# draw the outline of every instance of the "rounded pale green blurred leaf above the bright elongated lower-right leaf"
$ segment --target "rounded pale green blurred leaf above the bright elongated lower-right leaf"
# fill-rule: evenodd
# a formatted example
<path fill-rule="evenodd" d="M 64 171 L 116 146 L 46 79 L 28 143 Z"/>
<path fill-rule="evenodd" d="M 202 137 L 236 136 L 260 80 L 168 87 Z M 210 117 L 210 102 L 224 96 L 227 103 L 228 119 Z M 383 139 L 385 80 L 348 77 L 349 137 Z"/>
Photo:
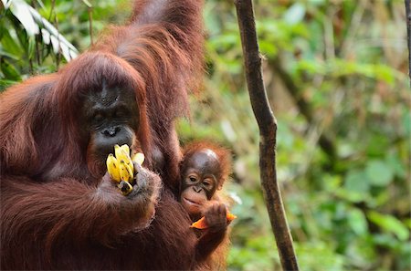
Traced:
<path fill-rule="evenodd" d="M 380 160 L 368 162 L 365 172 L 368 180 L 376 186 L 385 186 L 389 184 L 394 177 L 392 168 Z"/>

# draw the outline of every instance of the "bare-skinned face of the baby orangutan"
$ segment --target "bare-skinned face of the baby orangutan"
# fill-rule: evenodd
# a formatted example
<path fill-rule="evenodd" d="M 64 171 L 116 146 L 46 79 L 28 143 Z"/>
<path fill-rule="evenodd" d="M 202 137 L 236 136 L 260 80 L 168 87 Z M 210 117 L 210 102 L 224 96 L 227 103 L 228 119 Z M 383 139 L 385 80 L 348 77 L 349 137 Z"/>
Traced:
<path fill-rule="evenodd" d="M 180 202 L 191 215 L 200 214 L 203 203 L 210 201 L 218 188 L 220 167 L 216 153 L 209 149 L 195 151 L 182 168 Z"/>

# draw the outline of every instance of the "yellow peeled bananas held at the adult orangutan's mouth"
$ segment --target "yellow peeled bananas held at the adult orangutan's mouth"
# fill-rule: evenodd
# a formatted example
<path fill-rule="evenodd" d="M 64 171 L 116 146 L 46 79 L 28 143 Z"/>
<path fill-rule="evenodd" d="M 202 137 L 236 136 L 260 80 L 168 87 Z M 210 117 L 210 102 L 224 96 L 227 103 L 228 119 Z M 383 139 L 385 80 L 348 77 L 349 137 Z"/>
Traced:
<path fill-rule="evenodd" d="M 128 195 L 132 192 L 132 181 L 134 180 L 134 165 L 137 162 L 142 165 L 144 162 L 144 154 L 137 152 L 130 157 L 130 147 L 127 144 L 114 145 L 114 154 L 110 153 L 107 157 L 107 171 L 111 179 L 117 182 L 117 187 L 123 195 Z"/>

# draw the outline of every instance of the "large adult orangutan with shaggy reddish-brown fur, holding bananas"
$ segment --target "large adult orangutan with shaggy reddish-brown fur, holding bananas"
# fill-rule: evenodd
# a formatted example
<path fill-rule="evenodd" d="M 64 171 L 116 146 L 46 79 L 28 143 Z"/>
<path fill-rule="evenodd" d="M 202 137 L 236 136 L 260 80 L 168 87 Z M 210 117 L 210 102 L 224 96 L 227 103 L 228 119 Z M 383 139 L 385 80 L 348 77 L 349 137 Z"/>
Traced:
<path fill-rule="evenodd" d="M 174 119 L 202 68 L 201 2 L 136 1 L 126 26 L 1 94 L 2 270 L 200 264 L 173 193 Z M 106 172 L 114 144 L 146 157 L 127 196 Z"/>

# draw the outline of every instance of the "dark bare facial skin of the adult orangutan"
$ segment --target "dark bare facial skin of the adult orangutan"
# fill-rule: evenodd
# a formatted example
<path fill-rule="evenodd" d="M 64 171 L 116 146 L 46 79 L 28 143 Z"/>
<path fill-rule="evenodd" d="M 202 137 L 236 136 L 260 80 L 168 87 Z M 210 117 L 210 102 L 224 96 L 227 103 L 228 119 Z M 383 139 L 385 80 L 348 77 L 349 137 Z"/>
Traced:
<path fill-rule="evenodd" d="M 106 86 L 91 92 L 83 106 L 83 116 L 90 135 L 89 151 L 105 161 L 114 153 L 114 145 L 132 146 L 138 128 L 139 109 L 132 90 Z"/>

